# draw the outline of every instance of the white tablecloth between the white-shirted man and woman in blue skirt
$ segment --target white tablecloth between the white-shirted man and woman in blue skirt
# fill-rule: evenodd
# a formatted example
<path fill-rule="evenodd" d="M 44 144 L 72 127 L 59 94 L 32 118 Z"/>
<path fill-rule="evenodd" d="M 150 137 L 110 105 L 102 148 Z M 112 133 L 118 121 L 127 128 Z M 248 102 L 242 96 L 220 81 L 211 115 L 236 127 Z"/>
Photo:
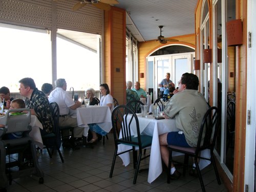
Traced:
<path fill-rule="evenodd" d="M 102 130 L 110 132 L 112 129 L 111 111 L 109 106 L 94 106 L 76 109 L 77 125 L 84 127 L 84 136 L 87 136 L 90 123 L 97 123 Z"/>

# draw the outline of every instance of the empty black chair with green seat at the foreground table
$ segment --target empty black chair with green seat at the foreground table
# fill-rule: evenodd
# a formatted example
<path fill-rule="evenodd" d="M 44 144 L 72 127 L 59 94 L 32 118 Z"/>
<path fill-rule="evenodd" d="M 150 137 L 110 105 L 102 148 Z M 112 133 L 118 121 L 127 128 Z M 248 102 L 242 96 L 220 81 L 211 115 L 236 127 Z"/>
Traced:
<path fill-rule="evenodd" d="M 139 121 L 138 121 L 137 115 L 132 109 L 130 109 L 126 105 L 117 106 L 112 112 L 111 118 L 112 118 L 113 135 L 114 135 L 114 141 L 115 141 L 115 152 L 114 152 L 114 157 L 113 157 L 111 171 L 110 171 L 110 178 L 113 176 L 116 157 L 120 154 L 133 151 L 134 168 L 136 168 L 133 184 L 136 184 L 140 162 L 141 160 L 150 156 L 148 155 L 142 158 L 142 150 L 143 148 L 151 146 L 152 137 L 147 135 L 140 135 L 140 127 L 139 127 Z M 134 134 L 132 134 L 132 131 L 131 131 L 132 121 L 135 121 L 135 125 L 136 125 L 136 129 L 134 129 L 136 130 L 136 133 Z M 118 136 L 117 134 L 118 132 L 117 130 L 119 128 L 120 128 L 120 136 Z M 137 136 L 135 137 L 134 135 L 137 135 Z M 119 144 L 129 145 L 132 148 L 130 150 L 117 153 Z M 135 151 L 135 147 L 139 148 L 138 158 L 137 158 L 137 152 Z"/>

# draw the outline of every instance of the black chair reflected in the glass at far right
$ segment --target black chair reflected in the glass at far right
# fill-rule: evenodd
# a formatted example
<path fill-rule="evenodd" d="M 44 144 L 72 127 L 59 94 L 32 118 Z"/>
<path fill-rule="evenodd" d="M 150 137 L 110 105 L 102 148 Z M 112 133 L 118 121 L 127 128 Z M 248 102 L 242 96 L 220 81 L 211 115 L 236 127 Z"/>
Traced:
<path fill-rule="evenodd" d="M 236 121 L 236 103 L 229 101 L 227 103 L 227 146 L 226 154 L 231 143 L 234 141 L 234 128 Z"/>

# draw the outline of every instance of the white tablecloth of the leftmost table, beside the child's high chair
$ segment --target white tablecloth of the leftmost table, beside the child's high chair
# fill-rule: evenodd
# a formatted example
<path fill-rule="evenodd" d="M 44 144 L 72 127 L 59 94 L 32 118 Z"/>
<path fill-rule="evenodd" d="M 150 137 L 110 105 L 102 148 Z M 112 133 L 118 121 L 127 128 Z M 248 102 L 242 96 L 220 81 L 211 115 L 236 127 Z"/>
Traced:
<path fill-rule="evenodd" d="M 0 118 L 0 124 L 3 124 L 4 118 Z M 31 132 L 29 132 L 29 136 L 33 138 L 35 141 L 35 144 L 40 147 L 41 149 L 44 148 L 44 145 L 42 144 L 42 137 L 39 129 L 42 129 L 42 124 L 37 119 L 35 115 L 31 115 L 31 122 L 30 125 L 32 126 Z"/>

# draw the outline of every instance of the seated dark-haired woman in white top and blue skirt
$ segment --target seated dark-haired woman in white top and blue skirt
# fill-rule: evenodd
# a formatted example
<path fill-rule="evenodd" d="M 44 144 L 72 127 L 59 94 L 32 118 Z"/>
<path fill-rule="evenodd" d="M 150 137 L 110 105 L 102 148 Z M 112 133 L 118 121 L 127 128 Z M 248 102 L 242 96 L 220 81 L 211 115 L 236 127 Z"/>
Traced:
<path fill-rule="evenodd" d="M 114 110 L 114 102 L 113 102 L 113 97 L 110 95 L 110 89 L 108 84 L 103 83 L 100 84 L 100 93 L 101 93 L 101 98 L 100 98 L 100 106 L 109 106 L 111 112 Z M 91 123 L 88 124 L 89 129 L 92 132 L 92 139 L 88 143 L 95 143 L 98 140 L 98 136 L 102 135 L 105 136 L 107 133 L 102 130 L 97 123 Z"/>

